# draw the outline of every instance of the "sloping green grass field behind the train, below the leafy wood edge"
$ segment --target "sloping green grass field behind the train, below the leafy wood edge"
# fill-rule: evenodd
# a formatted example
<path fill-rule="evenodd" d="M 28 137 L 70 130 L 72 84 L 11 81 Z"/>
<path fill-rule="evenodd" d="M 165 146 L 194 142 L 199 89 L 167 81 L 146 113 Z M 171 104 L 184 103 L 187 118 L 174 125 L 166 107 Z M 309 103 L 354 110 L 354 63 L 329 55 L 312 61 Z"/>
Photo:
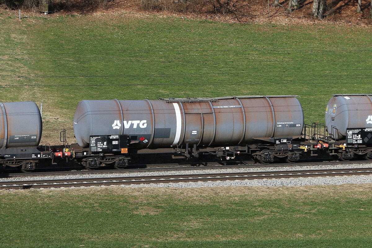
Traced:
<path fill-rule="evenodd" d="M 0 22 L 1 100 L 43 102 L 43 141 L 64 127 L 73 136 L 81 99 L 299 95 L 310 123 L 323 121 L 331 94 L 371 93 L 371 27 L 132 13 L 18 20 L 3 12 Z"/>

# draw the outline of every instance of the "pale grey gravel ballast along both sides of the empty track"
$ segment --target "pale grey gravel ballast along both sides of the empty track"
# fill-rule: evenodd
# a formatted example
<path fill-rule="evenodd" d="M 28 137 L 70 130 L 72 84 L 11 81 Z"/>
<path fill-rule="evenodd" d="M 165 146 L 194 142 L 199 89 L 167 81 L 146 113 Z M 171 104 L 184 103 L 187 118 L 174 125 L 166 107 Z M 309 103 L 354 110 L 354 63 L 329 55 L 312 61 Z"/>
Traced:
<path fill-rule="evenodd" d="M 283 167 L 260 167 L 260 168 L 231 168 L 231 169 L 196 169 L 185 171 L 151 171 L 151 172 L 115 172 L 102 174 L 78 174 L 78 175 L 48 175 L 48 176 L 24 176 L 14 178 L 0 178 L 1 182 L 33 181 L 54 179 L 78 179 L 78 178 L 106 178 L 106 177 L 140 177 L 151 175 L 188 175 L 188 174 L 211 174 L 232 172 L 264 172 L 264 171 L 293 171 L 314 169 L 350 169 L 369 168 L 370 163 L 349 165 L 319 165 L 319 166 L 283 166 Z M 279 179 L 250 179 L 232 181 L 209 181 L 209 182 L 183 182 L 183 183 L 160 183 L 160 184 L 133 184 L 116 187 L 176 187 L 176 188 L 199 188 L 217 186 L 302 186 L 302 185 L 340 185 L 340 184 L 363 184 L 372 183 L 372 175 L 359 176 L 331 176 L 331 177 L 306 177 L 306 178 L 279 178 Z M 100 187 L 100 186 L 96 186 Z"/>

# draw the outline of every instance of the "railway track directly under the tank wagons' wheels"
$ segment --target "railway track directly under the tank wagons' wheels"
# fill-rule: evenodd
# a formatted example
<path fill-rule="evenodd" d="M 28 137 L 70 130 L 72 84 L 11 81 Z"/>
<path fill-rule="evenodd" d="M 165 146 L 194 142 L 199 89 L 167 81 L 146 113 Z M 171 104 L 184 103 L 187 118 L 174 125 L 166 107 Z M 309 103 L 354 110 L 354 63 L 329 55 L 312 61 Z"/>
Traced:
<path fill-rule="evenodd" d="M 45 175 L 78 175 L 78 174 L 105 174 L 118 172 L 147 172 L 147 171 L 186 171 L 195 169 L 230 169 L 230 168 L 265 168 L 265 167 L 293 167 L 308 165 L 340 165 L 340 164 L 363 164 L 370 161 L 328 161 L 328 162 L 301 162 L 301 163 L 272 163 L 272 164 L 240 164 L 240 165 L 208 165 L 208 166 L 183 166 L 179 164 L 153 164 L 140 165 L 138 167 L 148 166 L 146 168 L 128 168 L 128 169 L 98 169 L 96 171 L 76 170 L 78 167 L 71 167 L 72 171 L 41 171 L 31 173 L 0 173 L 0 178 L 45 176 Z M 1 183 L 1 182 L 0 182 Z"/>

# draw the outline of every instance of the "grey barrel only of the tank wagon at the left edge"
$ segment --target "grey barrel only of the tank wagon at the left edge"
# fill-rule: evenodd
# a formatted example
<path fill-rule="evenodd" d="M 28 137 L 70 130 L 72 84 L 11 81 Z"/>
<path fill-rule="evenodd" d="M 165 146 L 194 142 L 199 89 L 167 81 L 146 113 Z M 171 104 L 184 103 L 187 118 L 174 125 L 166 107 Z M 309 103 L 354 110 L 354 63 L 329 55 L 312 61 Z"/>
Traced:
<path fill-rule="evenodd" d="M 0 147 L 38 146 L 42 121 L 35 102 L 0 103 Z"/>

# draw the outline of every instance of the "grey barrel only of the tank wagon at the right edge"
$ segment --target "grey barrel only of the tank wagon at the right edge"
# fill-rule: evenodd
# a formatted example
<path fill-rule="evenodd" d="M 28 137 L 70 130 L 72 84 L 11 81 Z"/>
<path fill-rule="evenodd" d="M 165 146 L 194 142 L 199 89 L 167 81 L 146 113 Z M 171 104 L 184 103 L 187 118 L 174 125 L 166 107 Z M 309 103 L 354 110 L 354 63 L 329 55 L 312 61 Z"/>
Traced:
<path fill-rule="evenodd" d="M 325 109 L 325 125 L 335 140 L 346 139 L 347 128 L 372 128 L 372 94 L 333 95 Z"/>

